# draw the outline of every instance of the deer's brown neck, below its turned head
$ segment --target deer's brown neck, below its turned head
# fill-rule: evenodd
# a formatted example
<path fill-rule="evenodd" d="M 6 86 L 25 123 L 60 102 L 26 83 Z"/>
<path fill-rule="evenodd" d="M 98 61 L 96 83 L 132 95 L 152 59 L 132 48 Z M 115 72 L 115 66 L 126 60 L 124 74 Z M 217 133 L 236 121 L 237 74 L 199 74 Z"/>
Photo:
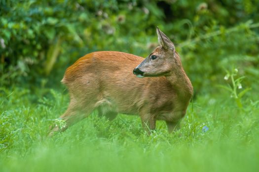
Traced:
<path fill-rule="evenodd" d="M 183 67 L 180 70 L 172 72 L 171 75 L 166 76 L 166 79 L 173 86 L 174 91 L 177 94 L 177 97 L 181 102 L 189 102 L 192 94 L 193 87 Z"/>

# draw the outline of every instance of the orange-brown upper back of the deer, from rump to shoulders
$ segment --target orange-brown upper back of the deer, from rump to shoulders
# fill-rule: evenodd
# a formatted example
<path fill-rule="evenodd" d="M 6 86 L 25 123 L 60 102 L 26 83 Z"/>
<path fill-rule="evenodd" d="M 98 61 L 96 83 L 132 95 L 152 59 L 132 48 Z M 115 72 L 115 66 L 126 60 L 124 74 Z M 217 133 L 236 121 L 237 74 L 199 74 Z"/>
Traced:
<path fill-rule="evenodd" d="M 132 74 L 133 69 L 143 59 L 122 52 L 100 51 L 90 53 L 79 58 L 66 70 L 62 82 L 65 84 L 71 83 L 89 73 L 95 74 L 100 79 L 102 73 L 109 75 L 113 72 L 123 71 Z"/>

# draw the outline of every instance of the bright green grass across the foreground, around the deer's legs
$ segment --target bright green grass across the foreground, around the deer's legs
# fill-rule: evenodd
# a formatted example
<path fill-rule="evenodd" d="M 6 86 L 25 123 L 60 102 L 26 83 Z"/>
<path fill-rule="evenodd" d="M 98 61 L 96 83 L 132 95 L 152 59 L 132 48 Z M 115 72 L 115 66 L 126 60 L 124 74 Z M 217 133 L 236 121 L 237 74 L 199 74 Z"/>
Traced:
<path fill-rule="evenodd" d="M 107 121 L 93 113 L 47 138 L 49 125 L 66 110 L 68 94 L 1 88 L 0 172 L 256 172 L 259 101 L 250 99 L 240 109 L 226 94 L 200 95 L 175 134 L 162 121 L 147 136 L 138 116 Z"/>

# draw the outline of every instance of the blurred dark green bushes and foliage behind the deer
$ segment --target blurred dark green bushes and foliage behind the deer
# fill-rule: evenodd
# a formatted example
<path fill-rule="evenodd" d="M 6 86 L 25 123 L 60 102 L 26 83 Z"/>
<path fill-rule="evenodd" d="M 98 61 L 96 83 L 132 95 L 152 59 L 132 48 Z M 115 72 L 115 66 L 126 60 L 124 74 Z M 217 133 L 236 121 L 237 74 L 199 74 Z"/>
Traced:
<path fill-rule="evenodd" d="M 259 0 L 0 0 L 0 86 L 61 87 L 94 51 L 147 57 L 158 26 L 175 43 L 196 94 L 226 70 L 259 90 Z"/>

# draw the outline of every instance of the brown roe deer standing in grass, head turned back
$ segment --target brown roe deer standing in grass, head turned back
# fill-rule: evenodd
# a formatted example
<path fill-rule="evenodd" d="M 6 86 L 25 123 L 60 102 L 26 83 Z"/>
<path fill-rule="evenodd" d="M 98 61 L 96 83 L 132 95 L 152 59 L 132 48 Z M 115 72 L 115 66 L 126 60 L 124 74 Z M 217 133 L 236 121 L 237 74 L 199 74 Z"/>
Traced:
<path fill-rule="evenodd" d="M 66 126 L 52 127 L 49 136 L 65 131 L 94 110 L 109 120 L 118 114 L 140 115 L 148 134 L 155 130 L 156 120 L 164 120 L 170 133 L 177 131 L 193 87 L 174 43 L 158 27 L 156 32 L 160 45 L 146 58 L 99 51 L 68 67 L 61 81 L 70 94 L 69 107 L 60 116 Z"/>

